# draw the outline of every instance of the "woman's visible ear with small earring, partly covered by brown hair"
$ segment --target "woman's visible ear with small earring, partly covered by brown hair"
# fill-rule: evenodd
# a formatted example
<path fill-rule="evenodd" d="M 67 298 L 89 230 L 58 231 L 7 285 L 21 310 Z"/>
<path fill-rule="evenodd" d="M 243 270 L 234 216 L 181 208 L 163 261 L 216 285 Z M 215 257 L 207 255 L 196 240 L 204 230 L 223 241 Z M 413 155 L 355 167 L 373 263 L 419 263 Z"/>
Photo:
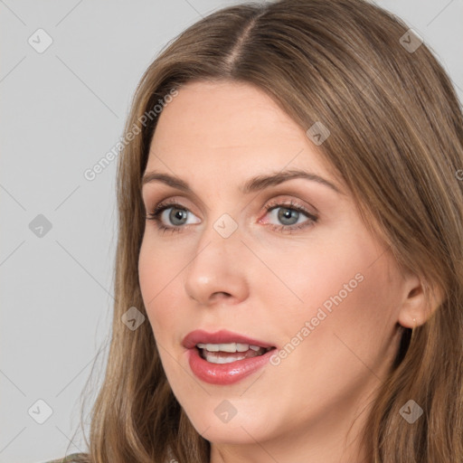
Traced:
<path fill-rule="evenodd" d="M 443 301 L 440 288 L 429 286 L 415 274 L 407 274 L 403 280 L 403 298 L 399 307 L 398 322 L 406 328 L 426 323 Z"/>

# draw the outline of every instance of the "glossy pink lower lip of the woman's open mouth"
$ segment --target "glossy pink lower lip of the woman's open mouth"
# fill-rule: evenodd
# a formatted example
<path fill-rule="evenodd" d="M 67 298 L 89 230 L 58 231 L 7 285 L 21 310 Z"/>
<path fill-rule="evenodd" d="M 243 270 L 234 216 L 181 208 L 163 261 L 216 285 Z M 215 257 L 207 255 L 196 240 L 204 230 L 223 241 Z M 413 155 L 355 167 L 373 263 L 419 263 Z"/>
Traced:
<path fill-rule="evenodd" d="M 193 373 L 203 382 L 210 384 L 238 383 L 252 373 L 257 372 L 274 354 L 275 349 L 257 357 L 236 360 L 230 364 L 212 364 L 203 359 L 195 347 L 188 349 L 188 363 Z"/>

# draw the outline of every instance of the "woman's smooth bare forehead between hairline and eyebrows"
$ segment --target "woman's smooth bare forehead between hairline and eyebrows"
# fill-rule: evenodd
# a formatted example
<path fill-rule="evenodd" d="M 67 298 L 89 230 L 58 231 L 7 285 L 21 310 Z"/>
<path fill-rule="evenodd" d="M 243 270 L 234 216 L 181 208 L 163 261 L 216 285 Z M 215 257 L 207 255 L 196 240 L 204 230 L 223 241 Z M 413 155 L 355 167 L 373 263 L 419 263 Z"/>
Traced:
<path fill-rule="evenodd" d="M 147 170 L 166 159 L 172 168 L 213 163 L 283 168 L 297 161 L 299 167 L 324 170 L 303 128 L 263 90 L 232 81 L 187 83 L 165 105 Z"/>

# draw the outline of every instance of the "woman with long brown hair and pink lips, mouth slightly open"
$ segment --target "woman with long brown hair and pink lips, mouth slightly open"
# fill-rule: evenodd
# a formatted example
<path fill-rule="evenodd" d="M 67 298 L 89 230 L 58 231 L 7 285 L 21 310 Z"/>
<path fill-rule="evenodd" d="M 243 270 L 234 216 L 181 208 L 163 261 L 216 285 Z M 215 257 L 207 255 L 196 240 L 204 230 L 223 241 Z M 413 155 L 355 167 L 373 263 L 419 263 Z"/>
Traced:
<path fill-rule="evenodd" d="M 109 363 L 67 461 L 461 461 L 462 128 L 361 0 L 182 33 L 128 118 Z"/>

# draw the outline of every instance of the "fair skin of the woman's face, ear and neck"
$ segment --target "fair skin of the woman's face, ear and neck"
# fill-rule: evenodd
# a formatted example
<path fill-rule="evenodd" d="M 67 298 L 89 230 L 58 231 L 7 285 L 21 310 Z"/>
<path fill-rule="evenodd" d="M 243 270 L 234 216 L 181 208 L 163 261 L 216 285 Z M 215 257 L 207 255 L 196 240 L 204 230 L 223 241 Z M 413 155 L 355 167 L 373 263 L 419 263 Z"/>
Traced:
<path fill-rule="evenodd" d="M 239 189 L 289 168 L 320 175 L 341 193 L 304 178 L 251 194 Z M 369 234 L 305 129 L 249 84 L 181 88 L 158 120 L 146 166 L 154 170 L 184 179 L 192 193 L 144 185 L 148 213 L 172 199 L 188 224 L 169 220 L 171 210 L 162 220 L 180 231 L 146 221 L 140 288 L 167 379 L 211 442 L 211 462 L 361 461 L 358 433 L 397 352 L 399 327 L 424 321 L 420 279 L 402 274 Z M 309 226 L 279 230 L 288 222 L 264 206 L 284 210 L 291 200 L 317 222 L 300 213 L 298 224 Z M 223 213 L 238 226 L 228 238 L 213 228 Z M 227 386 L 192 373 L 181 345 L 189 332 L 225 328 L 281 349 L 356 274 L 363 280 L 278 365 Z M 214 413 L 224 400 L 237 411 L 227 423 Z"/>

